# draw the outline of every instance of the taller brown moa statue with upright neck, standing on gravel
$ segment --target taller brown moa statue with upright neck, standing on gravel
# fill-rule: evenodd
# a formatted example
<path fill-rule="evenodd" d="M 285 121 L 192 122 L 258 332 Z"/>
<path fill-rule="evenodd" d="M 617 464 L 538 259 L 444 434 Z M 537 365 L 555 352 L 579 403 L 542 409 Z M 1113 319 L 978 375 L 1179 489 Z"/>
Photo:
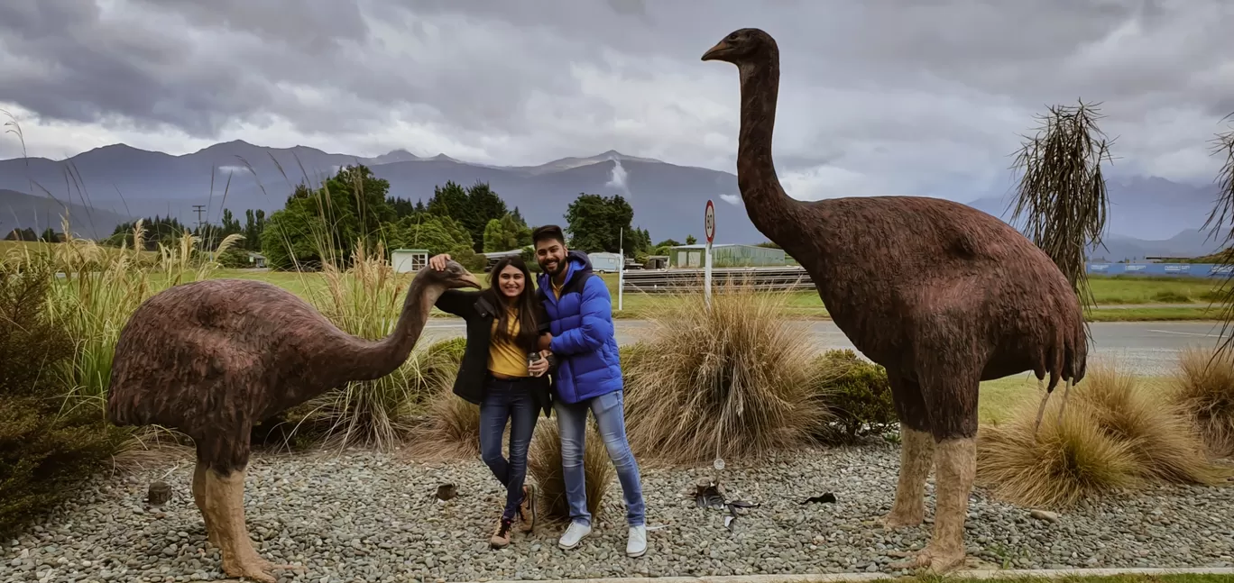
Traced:
<path fill-rule="evenodd" d="M 921 524 L 938 471 L 934 535 L 903 566 L 964 563 L 964 519 L 976 472 L 977 386 L 1033 371 L 1083 378 L 1087 338 L 1062 271 L 1007 223 L 943 198 L 875 196 L 802 202 L 771 161 L 780 84 L 775 39 L 728 35 L 702 55 L 740 73 L 737 182 L 750 221 L 810 274 L 835 325 L 887 369 L 903 436 L 888 528 Z"/>

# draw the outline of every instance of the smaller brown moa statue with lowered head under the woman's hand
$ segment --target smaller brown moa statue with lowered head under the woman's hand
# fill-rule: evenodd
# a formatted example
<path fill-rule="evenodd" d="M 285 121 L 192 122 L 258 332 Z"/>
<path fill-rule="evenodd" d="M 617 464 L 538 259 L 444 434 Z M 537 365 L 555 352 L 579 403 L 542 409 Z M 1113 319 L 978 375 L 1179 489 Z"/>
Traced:
<path fill-rule="evenodd" d="M 158 424 L 193 438 L 193 497 L 231 577 L 274 582 L 244 525 L 244 471 L 253 424 L 349 381 L 394 372 L 416 345 L 428 312 L 449 288 L 480 287 L 450 261 L 422 269 L 407 288 L 394 333 L 347 334 L 270 283 L 207 280 L 168 288 L 141 304 L 120 333 L 107 389 L 116 425 Z"/>

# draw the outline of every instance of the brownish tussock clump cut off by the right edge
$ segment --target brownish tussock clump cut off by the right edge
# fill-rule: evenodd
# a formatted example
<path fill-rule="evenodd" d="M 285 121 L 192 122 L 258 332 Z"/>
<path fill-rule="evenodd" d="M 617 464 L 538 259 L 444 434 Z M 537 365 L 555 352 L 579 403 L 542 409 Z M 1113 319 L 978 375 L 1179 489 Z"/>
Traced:
<path fill-rule="evenodd" d="M 1234 356 L 1214 356 L 1199 349 L 1183 351 L 1171 397 L 1212 455 L 1234 457 Z"/>

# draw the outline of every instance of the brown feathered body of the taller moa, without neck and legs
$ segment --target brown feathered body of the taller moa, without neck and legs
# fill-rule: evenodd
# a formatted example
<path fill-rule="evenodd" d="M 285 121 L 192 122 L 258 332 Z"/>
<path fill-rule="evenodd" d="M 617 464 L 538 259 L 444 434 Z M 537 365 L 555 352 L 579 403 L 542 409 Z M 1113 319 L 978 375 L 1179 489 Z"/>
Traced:
<path fill-rule="evenodd" d="M 796 218 L 765 227 L 780 230 L 772 240 L 801 261 L 835 325 L 875 362 L 908 373 L 928 351 L 953 366 L 977 364 L 981 380 L 1034 371 L 1053 388 L 1083 377 L 1079 298 L 1009 224 L 929 197 L 795 206 Z M 793 226 L 811 228 L 793 235 Z"/>

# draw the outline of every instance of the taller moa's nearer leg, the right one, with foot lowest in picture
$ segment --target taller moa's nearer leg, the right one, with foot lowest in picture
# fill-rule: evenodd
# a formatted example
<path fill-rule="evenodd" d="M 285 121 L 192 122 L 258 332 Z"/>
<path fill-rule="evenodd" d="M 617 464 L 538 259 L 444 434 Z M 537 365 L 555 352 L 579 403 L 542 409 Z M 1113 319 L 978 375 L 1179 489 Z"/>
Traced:
<path fill-rule="evenodd" d="M 977 387 L 980 373 L 923 375 L 922 396 L 934 438 L 934 532 L 908 565 L 945 573 L 964 565 L 964 521 L 977 470 Z"/>

